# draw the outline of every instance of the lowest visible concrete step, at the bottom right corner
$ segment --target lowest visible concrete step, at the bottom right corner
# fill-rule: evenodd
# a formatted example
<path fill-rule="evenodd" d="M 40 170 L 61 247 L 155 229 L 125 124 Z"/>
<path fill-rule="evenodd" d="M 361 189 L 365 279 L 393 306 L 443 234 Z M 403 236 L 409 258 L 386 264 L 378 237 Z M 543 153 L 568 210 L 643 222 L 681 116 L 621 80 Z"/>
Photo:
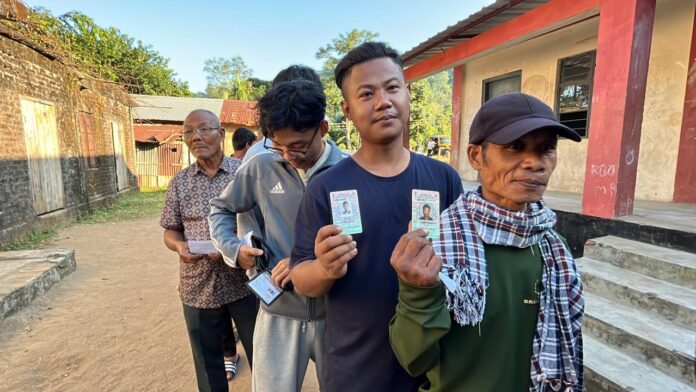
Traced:
<path fill-rule="evenodd" d="M 583 336 L 587 392 L 694 392 L 687 385 L 591 336 Z"/>

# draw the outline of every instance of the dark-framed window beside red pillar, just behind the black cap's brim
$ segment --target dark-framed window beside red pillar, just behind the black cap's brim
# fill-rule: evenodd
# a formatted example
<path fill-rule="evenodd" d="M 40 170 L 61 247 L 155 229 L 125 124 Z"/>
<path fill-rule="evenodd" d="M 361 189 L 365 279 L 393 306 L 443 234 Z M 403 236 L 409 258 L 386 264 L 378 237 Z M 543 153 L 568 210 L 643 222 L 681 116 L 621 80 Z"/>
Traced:
<path fill-rule="evenodd" d="M 558 61 L 558 120 L 584 138 L 588 135 L 590 125 L 594 66 L 594 51 Z"/>

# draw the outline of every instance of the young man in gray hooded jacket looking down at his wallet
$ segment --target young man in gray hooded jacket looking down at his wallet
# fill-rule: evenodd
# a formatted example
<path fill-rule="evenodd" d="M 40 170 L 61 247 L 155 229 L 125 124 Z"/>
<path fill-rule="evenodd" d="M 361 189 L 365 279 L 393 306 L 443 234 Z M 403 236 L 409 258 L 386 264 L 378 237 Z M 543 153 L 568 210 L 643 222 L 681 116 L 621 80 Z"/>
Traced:
<path fill-rule="evenodd" d="M 255 270 L 256 257 L 268 260 L 280 287 L 290 281 L 289 256 L 295 217 L 306 184 L 345 154 L 323 136 L 326 97 L 320 84 L 279 83 L 259 101 L 265 148 L 243 164 L 219 198 L 211 200 L 211 237 L 225 261 Z M 234 235 L 237 214 L 254 210 L 263 251 L 242 245 Z M 245 234 L 240 228 L 240 237 Z M 253 274 L 253 272 L 252 272 Z M 324 357 L 324 300 L 286 289 L 270 306 L 261 305 L 254 332 L 254 391 L 299 391 L 309 359 L 321 374 Z"/>

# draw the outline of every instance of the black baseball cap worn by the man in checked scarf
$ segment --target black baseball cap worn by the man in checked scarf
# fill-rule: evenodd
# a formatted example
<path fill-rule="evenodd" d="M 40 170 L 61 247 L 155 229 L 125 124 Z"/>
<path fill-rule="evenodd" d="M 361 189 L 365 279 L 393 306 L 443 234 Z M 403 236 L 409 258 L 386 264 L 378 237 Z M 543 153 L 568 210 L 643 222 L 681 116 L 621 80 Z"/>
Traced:
<path fill-rule="evenodd" d="M 548 105 L 522 93 L 499 95 L 481 106 L 469 129 L 469 144 L 508 144 L 537 129 L 579 142 L 580 135 L 556 119 Z"/>

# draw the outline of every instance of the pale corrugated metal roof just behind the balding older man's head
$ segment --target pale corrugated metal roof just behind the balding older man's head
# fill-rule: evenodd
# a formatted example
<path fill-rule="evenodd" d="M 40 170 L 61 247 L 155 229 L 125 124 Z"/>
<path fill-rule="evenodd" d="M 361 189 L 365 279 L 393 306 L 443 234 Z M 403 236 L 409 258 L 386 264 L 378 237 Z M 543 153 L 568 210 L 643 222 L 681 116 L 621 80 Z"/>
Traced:
<path fill-rule="evenodd" d="M 150 121 L 180 121 L 195 109 L 205 109 L 220 115 L 222 99 L 163 97 L 159 95 L 131 95 L 136 103 L 133 118 Z"/>

